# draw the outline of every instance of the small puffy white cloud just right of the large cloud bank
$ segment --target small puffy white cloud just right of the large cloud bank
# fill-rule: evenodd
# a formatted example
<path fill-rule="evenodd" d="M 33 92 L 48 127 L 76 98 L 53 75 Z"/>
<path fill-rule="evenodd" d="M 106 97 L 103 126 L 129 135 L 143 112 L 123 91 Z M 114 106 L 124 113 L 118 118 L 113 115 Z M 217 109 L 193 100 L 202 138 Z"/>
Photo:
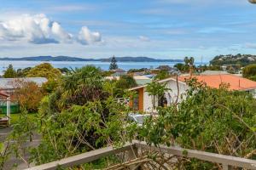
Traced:
<path fill-rule="evenodd" d="M 92 32 L 87 28 L 87 26 L 83 26 L 79 31 L 78 41 L 84 45 L 101 42 L 102 36 L 100 32 Z"/>

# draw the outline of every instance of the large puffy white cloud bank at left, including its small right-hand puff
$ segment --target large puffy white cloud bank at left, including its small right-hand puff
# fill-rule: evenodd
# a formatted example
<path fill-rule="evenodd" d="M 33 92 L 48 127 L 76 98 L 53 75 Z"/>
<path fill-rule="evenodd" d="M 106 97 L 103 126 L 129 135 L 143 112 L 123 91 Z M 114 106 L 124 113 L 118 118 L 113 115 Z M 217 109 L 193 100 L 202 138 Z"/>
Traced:
<path fill-rule="evenodd" d="M 23 14 L 9 20 L 0 21 L 0 40 L 44 43 L 78 42 L 87 45 L 101 41 L 99 32 L 91 32 L 86 26 L 82 27 L 78 38 L 56 21 L 49 20 L 45 14 Z"/>

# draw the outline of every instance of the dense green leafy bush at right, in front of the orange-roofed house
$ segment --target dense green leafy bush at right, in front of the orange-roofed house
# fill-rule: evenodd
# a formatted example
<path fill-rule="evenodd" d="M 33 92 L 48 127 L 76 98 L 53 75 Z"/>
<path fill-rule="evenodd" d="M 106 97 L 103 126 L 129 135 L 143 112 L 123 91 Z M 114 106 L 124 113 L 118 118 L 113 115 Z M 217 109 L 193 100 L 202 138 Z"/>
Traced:
<path fill-rule="evenodd" d="M 159 108 L 138 130 L 148 144 L 178 144 L 183 148 L 218 154 L 251 157 L 256 146 L 256 100 L 244 92 L 207 88 L 195 79 L 179 105 Z M 151 126 L 154 124 L 154 126 Z M 191 161 L 186 169 L 212 164 Z M 194 167 L 194 168 L 193 168 Z"/>

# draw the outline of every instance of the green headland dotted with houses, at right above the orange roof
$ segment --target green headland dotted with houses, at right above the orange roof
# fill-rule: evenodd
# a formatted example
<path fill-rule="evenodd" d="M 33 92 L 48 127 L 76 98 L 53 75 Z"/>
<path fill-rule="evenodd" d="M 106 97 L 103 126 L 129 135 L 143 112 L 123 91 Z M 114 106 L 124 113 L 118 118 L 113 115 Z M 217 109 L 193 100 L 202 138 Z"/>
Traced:
<path fill-rule="evenodd" d="M 228 54 L 218 55 L 210 61 L 211 65 L 250 65 L 256 64 L 256 55 L 251 54 Z"/>

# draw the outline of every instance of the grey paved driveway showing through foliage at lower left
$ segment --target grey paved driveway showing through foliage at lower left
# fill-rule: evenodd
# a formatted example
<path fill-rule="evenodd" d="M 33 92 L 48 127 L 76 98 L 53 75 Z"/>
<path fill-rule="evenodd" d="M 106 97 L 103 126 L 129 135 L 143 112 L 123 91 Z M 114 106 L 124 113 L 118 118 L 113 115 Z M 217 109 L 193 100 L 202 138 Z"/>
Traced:
<path fill-rule="evenodd" d="M 0 142 L 3 142 L 7 136 L 9 135 L 9 133 L 11 133 L 11 131 L 13 130 L 13 127 L 5 127 L 5 128 L 0 128 Z M 37 146 L 40 143 L 40 136 L 39 135 L 34 135 L 33 136 L 33 141 L 26 141 L 26 143 L 23 145 L 24 148 L 28 147 L 28 146 Z M 24 152 L 25 153 L 25 160 L 28 161 L 29 159 L 29 153 L 27 151 Z M 21 169 L 25 169 L 28 167 L 28 165 L 26 164 L 25 161 L 22 161 L 20 159 L 17 159 L 15 156 L 10 156 L 9 160 L 5 163 L 4 165 L 4 170 L 9 170 L 12 169 L 12 167 L 14 165 L 17 165 L 17 169 L 21 170 Z M 33 166 L 30 165 L 31 167 Z"/>

